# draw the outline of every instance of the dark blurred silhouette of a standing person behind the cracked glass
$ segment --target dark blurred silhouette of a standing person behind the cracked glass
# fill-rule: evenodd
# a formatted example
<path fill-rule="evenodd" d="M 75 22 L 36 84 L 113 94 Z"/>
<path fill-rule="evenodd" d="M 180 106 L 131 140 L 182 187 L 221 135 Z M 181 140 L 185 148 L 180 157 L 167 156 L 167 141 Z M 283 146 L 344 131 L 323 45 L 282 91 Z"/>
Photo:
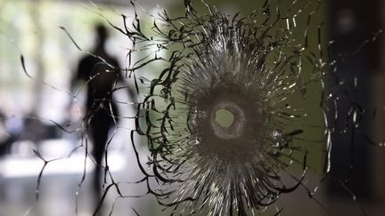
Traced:
<path fill-rule="evenodd" d="M 118 60 L 105 50 L 109 38 L 108 29 L 97 24 L 94 31 L 93 55 L 86 55 L 79 61 L 72 84 L 77 81 L 87 82 L 85 120 L 87 133 L 93 142 L 92 156 L 96 163 L 93 184 L 96 202 L 99 203 L 102 198 L 102 158 L 109 141 L 109 132 L 119 122 L 119 110 L 112 99 L 112 92 L 114 86 L 123 79 Z M 135 93 L 129 89 L 128 96 L 135 100 Z"/>

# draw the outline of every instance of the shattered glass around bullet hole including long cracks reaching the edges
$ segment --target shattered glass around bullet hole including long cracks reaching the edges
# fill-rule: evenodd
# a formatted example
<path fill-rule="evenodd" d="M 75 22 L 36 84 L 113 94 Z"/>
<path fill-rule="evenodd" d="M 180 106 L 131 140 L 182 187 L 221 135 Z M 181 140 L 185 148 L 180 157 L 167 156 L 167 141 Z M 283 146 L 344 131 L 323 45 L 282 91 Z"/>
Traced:
<path fill-rule="evenodd" d="M 132 1 L 129 13 L 112 12 L 120 20 L 111 20 L 100 5 L 87 5 L 86 10 L 126 39 L 127 44 L 119 44 L 126 51 L 124 65 L 84 50 L 76 34 L 61 27 L 61 36 L 73 49 L 102 65 L 71 92 L 32 76 L 27 57 L 20 53 L 25 76 L 66 94 L 75 109 L 70 112 L 77 116 L 66 124 L 41 116 L 26 118 L 51 122 L 80 140 L 66 156 L 47 158 L 33 149 L 42 168 L 36 173 L 37 202 L 26 214 L 43 202 L 41 187 L 49 165 L 80 154 L 76 166 L 82 173 L 72 188 L 76 215 L 94 167 L 102 168 L 102 194 L 96 196 L 94 215 L 115 215 L 117 205 L 149 196 L 152 201 L 147 202 L 165 215 L 286 215 L 287 209 L 295 208 L 289 206 L 291 193 L 299 190 L 314 208 L 333 215 L 320 192 L 329 185 L 348 194 L 365 215 L 349 185 L 359 153 L 354 142 L 360 136 L 365 140 L 360 145 L 384 146 L 366 129 L 383 108 L 357 99 L 364 78 L 354 72 L 346 75 L 345 62 L 378 40 L 381 30 L 368 34 L 353 52 L 336 54 L 326 34 L 324 7 L 321 1 L 266 0 L 250 13 L 226 14 L 215 4 L 184 0 L 184 13 L 171 15 L 161 7 L 148 12 Z M 84 100 L 85 89 L 107 82 L 111 74 L 107 96 L 83 113 L 79 100 Z M 111 96 L 119 92 L 131 96 Z M 131 116 L 118 112 L 115 105 L 129 108 Z M 114 124 L 102 163 L 96 163 L 89 133 L 99 110 Z M 132 128 L 122 127 L 122 120 L 130 121 Z M 117 140 L 120 133 L 126 136 Z M 111 171 L 119 161 L 110 156 L 111 143 L 117 141 L 129 148 L 125 166 L 139 173 L 134 180 Z M 338 142 L 349 145 L 342 153 L 350 156 L 348 172 L 333 170 L 339 167 L 333 160 L 339 155 L 332 151 Z M 135 207 L 129 211 L 146 215 Z"/>

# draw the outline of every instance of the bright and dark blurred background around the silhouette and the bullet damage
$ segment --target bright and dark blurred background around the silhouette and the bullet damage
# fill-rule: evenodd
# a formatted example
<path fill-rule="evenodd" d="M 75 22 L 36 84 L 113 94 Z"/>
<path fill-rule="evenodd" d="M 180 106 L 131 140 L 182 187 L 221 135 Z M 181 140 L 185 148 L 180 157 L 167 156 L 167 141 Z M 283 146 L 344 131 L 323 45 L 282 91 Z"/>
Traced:
<path fill-rule="evenodd" d="M 183 1 L 137 2 L 153 14 L 159 10 L 158 4 L 171 14 L 184 12 Z M 227 14 L 248 14 L 255 5 L 260 5 L 250 0 L 207 2 Z M 310 198 L 304 188 L 299 188 L 283 195 L 278 205 L 284 207 L 282 215 L 363 215 L 361 207 L 367 215 L 383 215 L 385 150 L 378 146 L 385 140 L 385 115 L 381 111 L 385 107 L 385 46 L 383 35 L 372 39 L 381 28 L 385 29 L 385 3 L 381 0 L 323 2 L 322 16 L 330 23 L 323 36 L 325 40 L 334 41 L 332 58 L 338 58 L 342 52 L 354 53 L 339 67 L 339 77 L 356 82 L 356 92 L 348 92 L 350 101 L 339 100 L 338 112 L 341 116 L 348 115 L 351 108 L 356 108 L 352 101 L 365 110 L 378 108 L 375 113 L 365 113 L 365 120 L 359 125 L 359 131 L 370 136 L 374 144 L 362 134 L 341 132 L 345 122 L 336 124 L 331 171 L 336 180 L 331 178 L 323 183 L 317 192 L 317 201 Z M 94 25 L 100 22 L 108 25 L 106 20 L 109 20 L 122 27 L 122 13 L 134 15 L 127 0 L 0 1 L 0 215 L 69 216 L 75 215 L 76 203 L 78 215 L 92 215 L 90 172 L 94 163 L 85 161 L 85 150 L 77 148 L 82 143 L 80 116 L 85 110 L 82 104 L 86 92 L 81 86 L 76 89 L 79 91 L 77 107 L 71 106 L 73 98 L 68 92 L 75 92 L 71 80 L 76 74 L 78 60 L 86 54 L 84 51 L 93 47 Z M 151 19 L 142 21 L 149 26 L 152 24 Z M 70 33 L 76 44 L 60 27 Z M 123 65 L 131 44 L 127 37 L 109 29 L 111 38 L 107 51 Z M 362 44 L 365 46 L 360 49 Z M 28 75 L 23 71 L 21 55 Z M 326 85 L 328 82 L 333 80 L 326 81 Z M 344 87 L 336 91 L 347 92 Z M 116 97 L 121 101 L 134 100 L 123 93 Z M 119 105 L 119 110 L 123 116 L 135 116 L 132 105 Z M 331 108 L 330 115 L 336 111 Z M 73 123 L 66 127 L 71 132 L 63 132 L 57 125 L 68 123 Z M 129 131 L 135 124 L 123 119 L 119 127 L 123 130 L 119 130 L 111 142 L 109 166 L 117 181 L 134 182 L 143 178 L 130 144 Z M 137 141 L 141 140 L 137 138 Z M 351 153 L 352 148 L 354 153 Z M 45 164 L 33 149 L 46 161 L 72 155 L 48 163 L 37 184 Z M 86 180 L 83 182 L 84 172 Z M 350 189 L 344 188 L 341 181 Z M 127 195 L 140 196 L 146 192 L 143 184 L 122 184 L 121 187 Z M 356 195 L 356 202 L 350 192 Z M 116 196 L 113 189 L 108 193 L 108 206 L 102 215 L 108 215 Z M 111 215 L 135 215 L 132 208 L 140 215 L 160 215 L 162 209 L 152 196 L 126 197 L 116 201 Z"/>

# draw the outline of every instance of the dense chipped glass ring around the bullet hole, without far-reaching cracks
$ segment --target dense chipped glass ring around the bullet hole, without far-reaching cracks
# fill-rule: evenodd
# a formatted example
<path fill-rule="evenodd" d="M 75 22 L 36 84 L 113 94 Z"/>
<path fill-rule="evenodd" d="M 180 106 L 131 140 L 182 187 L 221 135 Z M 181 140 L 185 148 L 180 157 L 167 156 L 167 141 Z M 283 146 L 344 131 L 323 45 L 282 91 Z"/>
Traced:
<path fill-rule="evenodd" d="M 323 173 L 307 162 L 315 149 L 327 158 L 330 145 L 324 104 L 311 105 L 323 101 L 329 69 L 318 44 L 308 44 L 320 4 L 265 2 L 245 17 L 206 6 L 201 15 L 185 1 L 185 16 L 176 19 L 161 11 L 151 39 L 135 32 L 143 47 L 158 47 L 143 64 L 166 61 L 144 92 L 146 124 L 137 128 L 151 152 L 144 180 L 158 182 L 149 192 L 176 214 L 256 215 L 307 188 L 308 169 Z M 299 28 L 301 16 L 307 23 Z M 231 124 L 218 123 L 220 110 L 233 115 Z"/>

